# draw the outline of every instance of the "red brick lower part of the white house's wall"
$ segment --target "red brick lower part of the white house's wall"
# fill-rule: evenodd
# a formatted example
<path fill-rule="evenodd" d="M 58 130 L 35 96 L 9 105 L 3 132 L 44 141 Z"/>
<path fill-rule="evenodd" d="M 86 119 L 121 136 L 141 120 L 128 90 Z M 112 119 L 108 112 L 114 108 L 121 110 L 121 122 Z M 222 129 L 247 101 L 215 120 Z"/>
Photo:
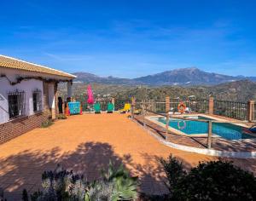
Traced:
<path fill-rule="evenodd" d="M 6 141 L 10 141 L 32 129 L 40 127 L 44 120 L 46 120 L 44 113 L 38 112 L 32 116 L 16 118 L 7 123 L 1 123 L 0 144 L 3 144 Z"/>

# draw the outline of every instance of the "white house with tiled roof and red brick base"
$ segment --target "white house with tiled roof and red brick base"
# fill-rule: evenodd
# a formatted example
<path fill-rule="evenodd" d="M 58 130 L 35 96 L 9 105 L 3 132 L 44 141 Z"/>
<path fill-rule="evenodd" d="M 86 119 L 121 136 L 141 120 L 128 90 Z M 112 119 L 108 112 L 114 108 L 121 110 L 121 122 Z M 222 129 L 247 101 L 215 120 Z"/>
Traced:
<path fill-rule="evenodd" d="M 73 78 L 67 72 L 0 55 L 0 143 L 40 126 L 46 118 L 54 119 L 57 84 L 67 82 L 71 97 Z"/>

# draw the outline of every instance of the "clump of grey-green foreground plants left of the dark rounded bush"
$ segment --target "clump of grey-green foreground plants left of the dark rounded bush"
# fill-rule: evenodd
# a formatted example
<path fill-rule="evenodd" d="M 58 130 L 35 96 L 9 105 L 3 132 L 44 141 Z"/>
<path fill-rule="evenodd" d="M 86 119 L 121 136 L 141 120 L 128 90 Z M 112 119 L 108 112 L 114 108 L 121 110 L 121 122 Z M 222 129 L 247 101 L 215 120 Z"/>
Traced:
<path fill-rule="evenodd" d="M 123 166 L 118 169 L 109 164 L 108 171 L 102 171 L 102 178 L 97 181 L 84 181 L 83 175 L 57 166 L 54 171 L 44 171 L 42 175 L 43 191 L 34 192 L 32 201 L 117 201 L 137 198 L 137 177 L 131 177 Z M 26 192 L 23 201 L 27 200 Z"/>

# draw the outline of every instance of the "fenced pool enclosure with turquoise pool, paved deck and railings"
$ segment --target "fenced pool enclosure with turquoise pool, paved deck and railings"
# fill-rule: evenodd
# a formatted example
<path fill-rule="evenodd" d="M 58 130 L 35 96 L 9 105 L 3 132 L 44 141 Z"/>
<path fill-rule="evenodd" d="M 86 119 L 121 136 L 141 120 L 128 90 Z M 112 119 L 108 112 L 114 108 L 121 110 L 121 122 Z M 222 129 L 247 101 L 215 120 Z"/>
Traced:
<path fill-rule="evenodd" d="M 184 146 L 229 150 L 234 148 L 236 141 L 250 140 L 254 137 L 249 133 L 252 126 L 249 116 L 255 119 L 256 104 L 253 101 L 233 102 L 224 100 L 183 100 L 186 108 L 194 115 L 177 112 L 181 100 L 143 100 L 139 104 L 142 112 L 132 115 L 143 128 L 152 131 L 164 141 L 171 141 Z M 168 105 L 170 104 L 170 105 Z M 253 106 L 252 106 L 253 105 Z M 135 104 L 137 107 L 137 104 Z M 208 116 L 200 115 L 207 113 Z M 212 116 L 218 114 L 227 118 Z M 230 119 L 233 118 L 233 119 Z M 244 150 L 242 146 L 238 149 Z"/>

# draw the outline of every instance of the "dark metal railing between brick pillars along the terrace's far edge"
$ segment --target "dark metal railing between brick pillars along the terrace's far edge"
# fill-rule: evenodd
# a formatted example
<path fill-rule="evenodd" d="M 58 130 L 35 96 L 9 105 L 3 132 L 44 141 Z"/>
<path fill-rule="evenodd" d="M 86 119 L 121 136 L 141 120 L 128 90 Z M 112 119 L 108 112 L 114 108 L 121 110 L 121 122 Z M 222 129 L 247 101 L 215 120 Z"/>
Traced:
<path fill-rule="evenodd" d="M 81 102 L 83 111 L 90 111 L 92 105 L 87 104 L 86 95 L 76 96 L 76 100 Z M 102 111 L 107 110 L 108 102 L 111 99 L 104 98 L 98 100 L 101 103 Z M 183 101 L 186 106 L 186 112 L 189 113 L 208 113 L 210 112 L 210 104 L 207 99 L 194 99 L 194 100 L 177 100 L 170 99 L 170 112 L 178 112 L 177 106 Z M 119 109 L 124 108 L 125 103 L 131 104 L 131 99 L 115 99 L 114 100 L 114 109 L 118 111 Z M 166 113 L 166 100 L 143 100 L 141 102 L 136 101 L 135 109 L 142 108 L 141 103 L 146 106 L 146 109 L 152 112 Z M 248 104 L 245 102 L 235 102 L 235 101 L 226 101 L 226 100 L 214 100 L 211 104 L 213 114 L 224 116 L 227 118 L 235 118 L 237 120 L 249 120 L 248 119 Z M 256 120 L 256 103 L 251 106 L 250 109 L 251 120 Z"/>

